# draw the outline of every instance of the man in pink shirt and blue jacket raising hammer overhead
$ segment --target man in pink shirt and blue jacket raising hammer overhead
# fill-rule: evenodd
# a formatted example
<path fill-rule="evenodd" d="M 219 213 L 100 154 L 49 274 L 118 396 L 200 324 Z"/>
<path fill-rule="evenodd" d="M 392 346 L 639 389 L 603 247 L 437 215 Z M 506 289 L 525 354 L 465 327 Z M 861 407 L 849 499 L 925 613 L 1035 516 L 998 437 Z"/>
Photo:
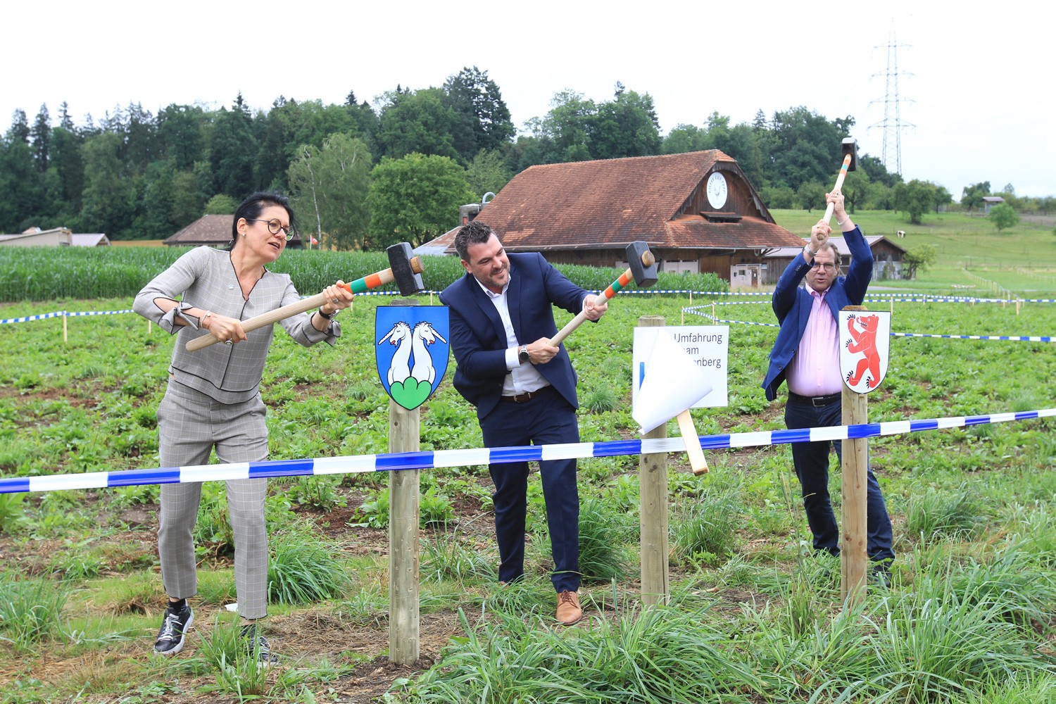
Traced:
<path fill-rule="evenodd" d="M 826 203 L 834 205 L 836 223 L 851 250 L 850 270 L 846 277 L 841 275 L 842 258 L 829 243 L 828 222 L 822 220 L 811 228 L 810 243 L 785 269 L 774 289 L 773 308 L 781 327 L 770 353 L 762 387 L 767 400 L 773 401 L 778 386 L 788 381 L 785 424 L 789 430 L 843 424 L 840 310 L 861 305 L 872 278 L 872 252 L 862 230 L 844 210 L 844 196 L 838 191 L 827 193 Z M 800 288 L 804 277 L 807 285 Z M 829 500 L 829 443 L 793 442 L 792 463 L 803 488 L 814 549 L 838 555 L 840 530 Z M 836 440 L 833 444 L 842 461 L 842 443 Z M 866 512 L 866 553 L 873 560 L 874 574 L 886 584 L 889 564 L 894 559 L 891 519 L 871 469 L 867 470 Z"/>

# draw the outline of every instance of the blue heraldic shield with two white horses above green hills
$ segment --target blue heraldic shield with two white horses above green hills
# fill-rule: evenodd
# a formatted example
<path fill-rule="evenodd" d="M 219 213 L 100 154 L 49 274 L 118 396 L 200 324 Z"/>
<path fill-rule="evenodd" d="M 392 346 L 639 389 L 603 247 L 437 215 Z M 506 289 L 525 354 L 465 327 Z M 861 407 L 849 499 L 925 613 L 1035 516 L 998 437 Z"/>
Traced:
<path fill-rule="evenodd" d="M 375 358 L 392 400 L 414 411 L 432 396 L 448 370 L 450 330 L 447 306 L 378 306 Z"/>

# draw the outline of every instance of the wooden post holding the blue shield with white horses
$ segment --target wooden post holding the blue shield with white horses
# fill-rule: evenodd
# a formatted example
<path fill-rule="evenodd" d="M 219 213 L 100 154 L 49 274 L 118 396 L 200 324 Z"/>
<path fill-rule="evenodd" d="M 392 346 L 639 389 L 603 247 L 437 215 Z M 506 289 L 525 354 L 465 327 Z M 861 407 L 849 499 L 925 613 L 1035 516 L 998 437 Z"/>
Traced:
<path fill-rule="evenodd" d="M 393 305 L 417 305 L 397 299 Z M 420 408 L 408 411 L 389 399 L 389 452 L 418 452 Z M 389 473 L 389 661 L 412 665 L 418 660 L 418 519 L 420 470 Z"/>

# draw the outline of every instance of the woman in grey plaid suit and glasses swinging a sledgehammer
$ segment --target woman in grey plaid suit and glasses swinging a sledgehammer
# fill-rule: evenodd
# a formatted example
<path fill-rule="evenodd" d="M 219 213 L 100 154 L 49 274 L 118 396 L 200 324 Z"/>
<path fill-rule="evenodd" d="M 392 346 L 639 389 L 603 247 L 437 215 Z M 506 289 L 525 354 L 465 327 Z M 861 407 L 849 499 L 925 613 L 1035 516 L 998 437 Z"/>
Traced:
<path fill-rule="evenodd" d="M 234 213 L 228 251 L 193 249 L 136 296 L 136 312 L 176 335 L 169 386 L 157 410 L 163 467 L 205 464 L 213 449 L 224 463 L 267 459 L 260 383 L 274 326 L 247 334 L 241 321 L 299 299 L 287 274 L 266 268 L 293 236 L 293 223 L 285 196 L 253 193 Z M 352 302 L 341 283 L 326 287 L 327 303 L 318 310 L 281 321 L 295 340 L 306 347 L 334 344 L 341 335 L 334 316 Z M 208 332 L 225 344 L 187 351 L 189 341 Z M 276 658 L 256 626 L 267 611 L 265 490 L 266 479 L 227 479 L 243 635 L 261 662 L 271 664 Z M 154 650 L 164 655 L 183 649 L 194 620 L 187 598 L 197 592 L 192 530 L 201 497 L 201 483 L 162 486 L 157 547 L 169 606 Z"/>

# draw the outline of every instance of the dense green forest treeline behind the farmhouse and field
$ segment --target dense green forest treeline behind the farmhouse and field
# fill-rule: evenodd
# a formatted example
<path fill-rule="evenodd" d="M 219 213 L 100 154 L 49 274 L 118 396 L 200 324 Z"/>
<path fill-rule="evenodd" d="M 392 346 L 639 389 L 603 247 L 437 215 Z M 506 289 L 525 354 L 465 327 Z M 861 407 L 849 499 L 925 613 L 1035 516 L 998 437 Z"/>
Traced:
<path fill-rule="evenodd" d="M 63 102 L 53 119 L 15 111 L 0 140 L 0 232 L 69 227 L 113 240 L 167 237 L 204 213 L 231 213 L 254 190 L 295 199 L 299 229 L 339 249 L 420 244 L 457 224 L 458 206 L 497 193 L 535 164 L 720 149 L 737 159 L 773 208 L 814 208 L 836 171 L 851 116 L 804 107 L 731 125 L 713 112 L 700 126 L 661 135 L 653 98 L 617 83 L 610 100 L 554 95 L 518 131 L 487 71 L 466 68 L 440 88 L 397 85 L 341 104 L 279 96 L 253 111 L 238 95 L 219 110 L 138 103 L 76 125 Z M 835 166 L 834 166 L 835 165 Z M 904 183 L 860 153 L 845 193 L 852 208 L 921 214 L 953 202 L 942 186 Z M 1011 185 L 1002 194 L 1015 197 Z M 991 194 L 982 182 L 962 204 Z M 1052 209 L 1023 198 L 1017 209 Z M 976 203 L 979 201 L 979 203 Z"/>

